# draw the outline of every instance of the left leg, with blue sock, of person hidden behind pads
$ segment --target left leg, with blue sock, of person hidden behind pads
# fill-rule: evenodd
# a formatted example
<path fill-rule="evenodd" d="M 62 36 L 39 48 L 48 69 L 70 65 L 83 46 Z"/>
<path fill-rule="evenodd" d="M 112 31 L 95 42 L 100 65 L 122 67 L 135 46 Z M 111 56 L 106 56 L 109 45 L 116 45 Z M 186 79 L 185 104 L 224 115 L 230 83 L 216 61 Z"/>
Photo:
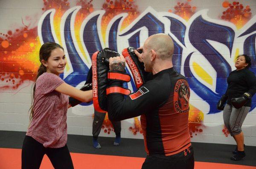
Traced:
<path fill-rule="evenodd" d="M 103 121 L 105 119 L 106 113 L 100 113 L 94 110 L 93 118 L 93 147 L 100 149 L 101 146 L 98 142 L 98 136 L 102 128 Z"/>

